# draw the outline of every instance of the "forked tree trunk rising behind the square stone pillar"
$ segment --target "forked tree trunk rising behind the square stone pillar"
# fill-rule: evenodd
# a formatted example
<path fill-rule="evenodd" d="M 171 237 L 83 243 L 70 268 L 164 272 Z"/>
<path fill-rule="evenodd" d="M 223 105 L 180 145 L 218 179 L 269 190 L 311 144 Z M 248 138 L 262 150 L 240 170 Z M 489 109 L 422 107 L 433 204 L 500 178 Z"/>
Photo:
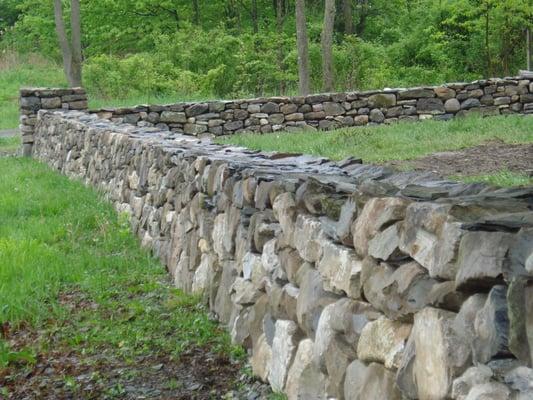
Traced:
<path fill-rule="evenodd" d="M 80 0 L 71 0 L 70 3 L 70 40 L 65 29 L 65 22 L 63 21 L 61 0 L 54 0 L 54 16 L 57 38 L 63 55 L 63 69 L 65 70 L 68 83 L 72 87 L 81 86 L 82 56 Z"/>

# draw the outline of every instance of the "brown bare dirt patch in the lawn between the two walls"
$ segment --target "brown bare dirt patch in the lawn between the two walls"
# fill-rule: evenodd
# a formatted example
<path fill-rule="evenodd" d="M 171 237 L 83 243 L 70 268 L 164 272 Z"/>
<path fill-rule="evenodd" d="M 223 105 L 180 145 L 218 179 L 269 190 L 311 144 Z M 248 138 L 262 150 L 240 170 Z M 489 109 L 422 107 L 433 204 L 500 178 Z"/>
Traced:
<path fill-rule="evenodd" d="M 533 144 L 490 142 L 457 151 L 433 153 L 416 160 L 391 161 L 394 167 L 433 171 L 442 176 L 473 176 L 502 170 L 533 176 Z"/>

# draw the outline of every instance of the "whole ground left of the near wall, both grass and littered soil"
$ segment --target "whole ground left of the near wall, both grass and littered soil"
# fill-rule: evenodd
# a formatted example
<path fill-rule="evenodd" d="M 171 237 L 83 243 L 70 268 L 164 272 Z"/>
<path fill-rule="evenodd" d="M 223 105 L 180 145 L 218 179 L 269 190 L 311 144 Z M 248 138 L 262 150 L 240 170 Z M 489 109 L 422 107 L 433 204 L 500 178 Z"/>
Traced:
<path fill-rule="evenodd" d="M 32 160 L 0 170 L 0 398 L 209 399 L 248 382 L 243 350 L 102 196 Z"/>

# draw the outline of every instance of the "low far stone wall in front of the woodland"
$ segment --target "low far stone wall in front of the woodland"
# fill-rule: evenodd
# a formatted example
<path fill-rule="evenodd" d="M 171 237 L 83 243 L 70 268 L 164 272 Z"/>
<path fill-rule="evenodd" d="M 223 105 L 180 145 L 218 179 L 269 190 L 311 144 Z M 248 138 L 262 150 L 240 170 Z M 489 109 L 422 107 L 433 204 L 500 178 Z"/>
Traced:
<path fill-rule="evenodd" d="M 517 78 L 438 87 L 146 105 L 93 110 L 101 118 L 187 135 L 330 130 L 367 124 L 447 120 L 470 113 L 533 113 L 533 80 Z"/>

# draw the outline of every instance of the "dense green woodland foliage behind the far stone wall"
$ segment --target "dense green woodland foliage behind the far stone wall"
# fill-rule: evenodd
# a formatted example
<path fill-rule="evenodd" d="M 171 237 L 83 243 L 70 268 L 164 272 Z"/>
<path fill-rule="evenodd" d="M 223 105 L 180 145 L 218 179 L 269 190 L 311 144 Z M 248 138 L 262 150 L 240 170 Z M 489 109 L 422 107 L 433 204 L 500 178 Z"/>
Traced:
<path fill-rule="evenodd" d="M 65 2 L 65 14 L 68 14 Z M 294 94 L 294 5 L 277 26 L 275 2 L 82 2 L 86 84 L 92 96 L 235 97 Z M 306 2 L 312 90 L 322 85 L 323 2 Z M 353 1 L 355 34 L 335 24 L 337 90 L 468 81 L 524 68 L 528 0 Z M 0 48 L 60 60 L 52 2 L 3 0 Z M 255 28 L 257 27 L 257 32 Z"/>

